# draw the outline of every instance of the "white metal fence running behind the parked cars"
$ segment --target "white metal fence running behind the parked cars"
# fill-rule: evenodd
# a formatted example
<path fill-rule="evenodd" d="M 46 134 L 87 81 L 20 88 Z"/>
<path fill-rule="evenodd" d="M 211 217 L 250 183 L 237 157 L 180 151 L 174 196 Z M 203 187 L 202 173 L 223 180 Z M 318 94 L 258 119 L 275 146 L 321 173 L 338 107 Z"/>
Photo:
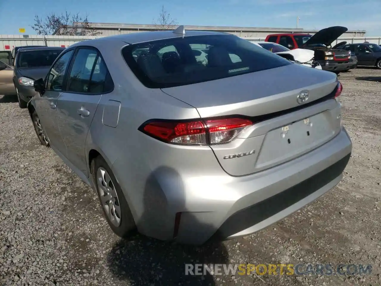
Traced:
<path fill-rule="evenodd" d="M 56 35 L 0 35 L 0 51 L 11 51 L 14 47 L 30 45 L 47 45 L 50 47 L 69 47 L 74 43 L 89 39 L 96 39 L 102 36 L 56 36 Z M 243 39 L 260 42 L 264 37 L 243 37 Z M 357 37 L 357 38 L 339 38 L 333 44 L 346 41 L 347 43 L 370 43 L 381 44 L 381 37 Z"/>

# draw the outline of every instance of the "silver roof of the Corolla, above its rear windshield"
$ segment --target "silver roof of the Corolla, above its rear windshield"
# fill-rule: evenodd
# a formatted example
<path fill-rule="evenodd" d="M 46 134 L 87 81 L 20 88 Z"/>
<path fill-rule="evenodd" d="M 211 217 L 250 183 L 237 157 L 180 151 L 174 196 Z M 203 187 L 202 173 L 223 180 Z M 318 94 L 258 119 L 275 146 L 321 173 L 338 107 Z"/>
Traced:
<path fill-rule="evenodd" d="M 126 44 L 136 44 L 136 43 L 143 43 L 143 42 L 150 42 L 154 40 L 163 40 L 163 39 L 170 39 L 170 38 L 183 38 L 183 37 L 192 37 L 192 36 L 202 36 L 202 35 L 230 35 L 232 37 L 237 37 L 235 35 L 229 34 L 229 33 L 223 33 L 223 32 L 213 32 L 213 31 L 185 31 L 185 35 L 182 34 L 175 34 L 173 33 L 173 30 L 170 31 L 147 31 L 147 32 L 135 32 L 130 34 L 121 34 L 121 35 L 113 35 L 113 36 L 107 36 L 107 37 L 101 37 L 98 39 L 92 39 L 92 40 L 85 40 L 82 42 L 75 43 L 71 45 L 70 47 L 76 47 L 76 46 L 84 46 L 86 44 L 88 45 L 104 45 L 104 44 L 110 44 L 112 42 L 115 43 L 121 43 L 124 42 Z"/>

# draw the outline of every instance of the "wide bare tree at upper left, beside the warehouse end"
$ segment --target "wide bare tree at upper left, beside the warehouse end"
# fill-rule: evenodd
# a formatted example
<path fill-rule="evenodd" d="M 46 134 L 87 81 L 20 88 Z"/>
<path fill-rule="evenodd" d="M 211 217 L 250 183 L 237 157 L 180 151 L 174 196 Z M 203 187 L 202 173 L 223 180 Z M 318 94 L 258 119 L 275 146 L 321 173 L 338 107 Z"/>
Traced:
<path fill-rule="evenodd" d="M 102 34 L 90 26 L 87 15 L 82 18 L 79 13 L 70 14 L 67 11 L 61 14 L 51 13 L 45 18 L 35 15 L 34 24 L 30 27 L 38 35 L 99 36 Z"/>

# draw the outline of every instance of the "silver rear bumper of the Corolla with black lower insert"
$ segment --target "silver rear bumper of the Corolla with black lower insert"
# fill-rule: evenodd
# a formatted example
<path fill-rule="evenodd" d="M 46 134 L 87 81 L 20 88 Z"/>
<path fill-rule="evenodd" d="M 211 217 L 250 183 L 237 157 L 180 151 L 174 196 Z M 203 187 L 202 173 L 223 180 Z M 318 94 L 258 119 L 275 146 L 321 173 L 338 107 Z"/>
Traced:
<path fill-rule="evenodd" d="M 143 200 L 144 214 L 135 217 L 136 225 L 145 235 L 186 244 L 248 235 L 292 214 L 338 184 L 351 151 L 351 139 L 342 128 L 319 148 L 253 175 L 163 171 L 160 181 L 170 183 L 165 188 L 152 184 L 150 193 L 163 193 L 165 198 L 156 195 L 157 199 L 150 202 Z M 160 214 L 150 214 L 158 207 Z M 175 223 L 176 214 L 179 223 Z"/>

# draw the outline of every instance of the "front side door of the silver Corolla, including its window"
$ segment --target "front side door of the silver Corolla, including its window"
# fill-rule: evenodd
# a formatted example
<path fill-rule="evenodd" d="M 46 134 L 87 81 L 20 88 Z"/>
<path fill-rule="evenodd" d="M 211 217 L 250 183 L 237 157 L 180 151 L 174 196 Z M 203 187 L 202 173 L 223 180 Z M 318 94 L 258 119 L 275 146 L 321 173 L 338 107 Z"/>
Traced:
<path fill-rule="evenodd" d="M 62 154 L 66 153 L 66 146 L 61 138 L 57 124 L 59 120 L 57 116 L 57 100 L 62 93 L 65 73 L 73 53 L 74 50 L 69 50 L 56 59 L 45 79 L 44 94 L 34 96 L 32 99 L 50 145 Z"/>

